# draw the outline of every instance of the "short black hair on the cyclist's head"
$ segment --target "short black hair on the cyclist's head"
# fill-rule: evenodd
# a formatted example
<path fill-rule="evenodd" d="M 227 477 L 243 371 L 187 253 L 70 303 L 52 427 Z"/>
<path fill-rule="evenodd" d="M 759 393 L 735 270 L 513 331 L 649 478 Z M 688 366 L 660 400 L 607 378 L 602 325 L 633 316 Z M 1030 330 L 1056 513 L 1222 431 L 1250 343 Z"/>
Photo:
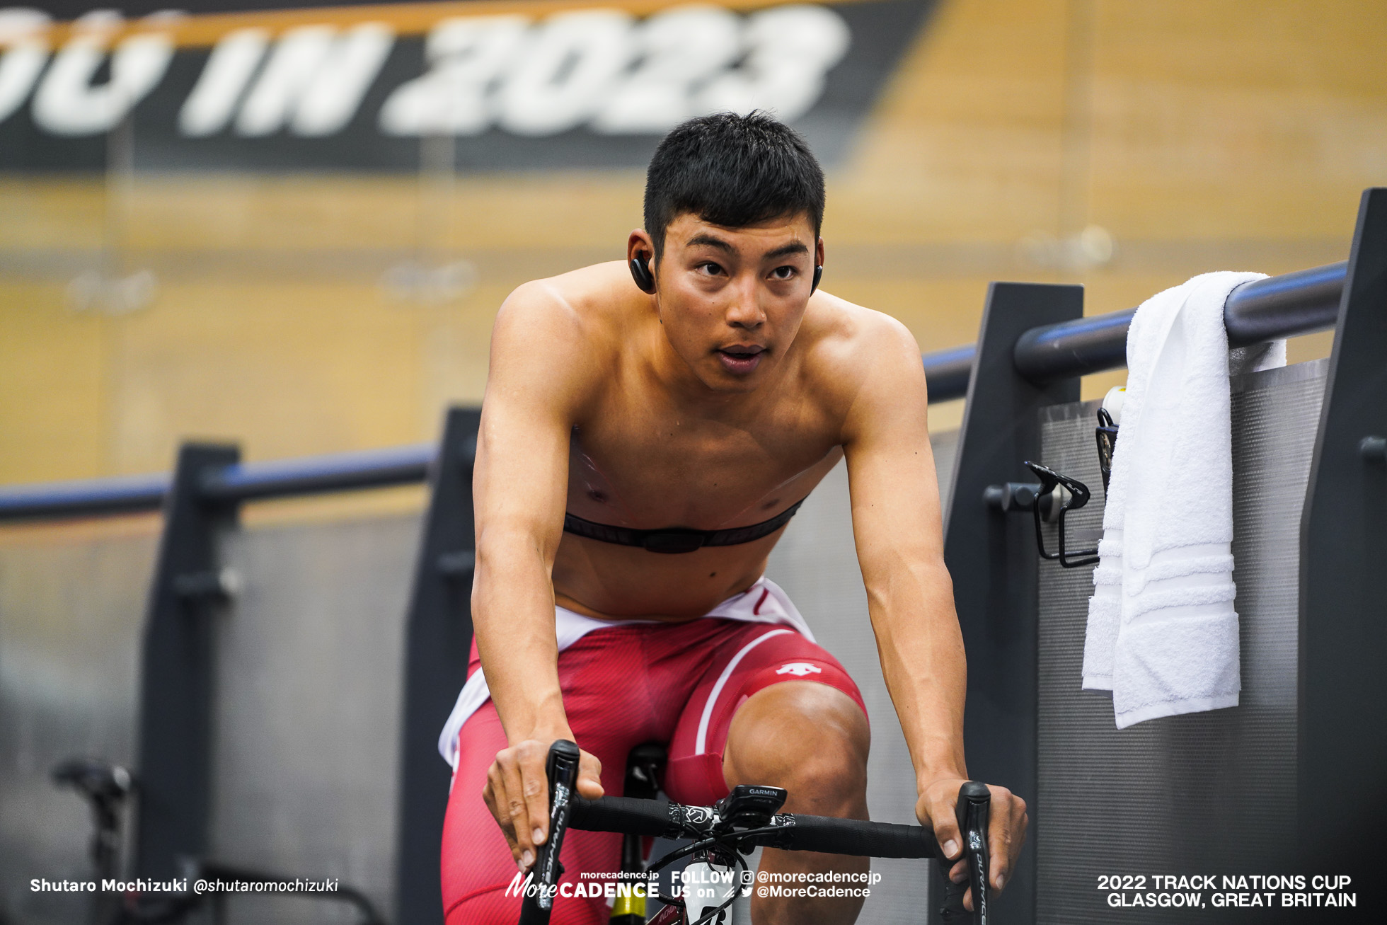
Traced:
<path fill-rule="evenodd" d="M 664 136 L 645 172 L 645 230 L 656 258 L 684 212 L 727 227 L 809 212 L 818 237 L 824 169 L 795 129 L 761 111 L 700 115 Z"/>

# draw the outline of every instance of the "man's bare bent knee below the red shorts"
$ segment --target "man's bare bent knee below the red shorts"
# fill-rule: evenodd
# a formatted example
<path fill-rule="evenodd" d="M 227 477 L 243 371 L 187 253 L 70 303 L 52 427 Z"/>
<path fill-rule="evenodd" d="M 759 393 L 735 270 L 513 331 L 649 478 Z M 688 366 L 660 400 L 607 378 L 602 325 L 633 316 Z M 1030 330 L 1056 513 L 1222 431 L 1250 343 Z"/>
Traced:
<path fill-rule="evenodd" d="M 865 799 L 870 743 L 867 717 L 850 696 L 785 681 L 757 691 L 732 717 L 723 775 L 730 788 L 785 788 L 791 811 L 852 813 Z"/>

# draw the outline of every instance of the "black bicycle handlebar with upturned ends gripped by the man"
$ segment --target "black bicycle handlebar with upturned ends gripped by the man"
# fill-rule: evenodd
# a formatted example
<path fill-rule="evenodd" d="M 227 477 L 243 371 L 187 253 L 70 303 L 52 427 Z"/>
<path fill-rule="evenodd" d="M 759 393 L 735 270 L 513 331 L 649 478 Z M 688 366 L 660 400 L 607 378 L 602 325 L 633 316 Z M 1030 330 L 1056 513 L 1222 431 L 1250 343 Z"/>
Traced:
<path fill-rule="evenodd" d="M 735 820 L 721 820 L 716 809 L 689 807 L 667 800 L 638 800 L 602 797 L 584 800 L 574 793 L 578 768 L 578 746 L 558 741 L 549 749 L 549 838 L 538 849 L 533 868 L 531 889 L 520 908 L 520 925 L 548 925 L 558 894 L 559 851 L 569 828 L 589 832 L 620 832 L 653 838 L 717 839 L 739 851 L 750 851 L 757 845 L 791 851 L 824 851 L 828 854 L 856 854 L 860 857 L 932 857 L 942 865 L 946 881 L 951 863 L 943 857 L 935 835 L 920 825 L 895 825 L 818 815 L 773 815 L 759 828 L 738 828 Z M 781 792 L 784 793 L 784 792 Z M 958 790 L 957 820 L 964 842 L 968 878 L 950 883 L 945 890 L 940 914 L 953 921 L 967 915 L 963 896 L 972 888 L 974 925 L 988 925 L 989 915 L 989 858 L 988 810 L 992 795 L 985 784 L 970 781 Z M 655 864 L 653 867 L 659 867 Z"/>

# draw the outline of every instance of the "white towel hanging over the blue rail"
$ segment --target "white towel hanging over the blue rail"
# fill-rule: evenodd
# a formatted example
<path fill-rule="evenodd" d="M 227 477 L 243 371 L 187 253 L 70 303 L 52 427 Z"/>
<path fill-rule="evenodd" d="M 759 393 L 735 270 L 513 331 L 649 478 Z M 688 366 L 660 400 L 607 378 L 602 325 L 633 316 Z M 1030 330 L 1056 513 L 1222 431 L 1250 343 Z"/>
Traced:
<path fill-rule="evenodd" d="M 1237 704 L 1223 302 L 1234 286 L 1262 277 L 1196 276 L 1147 300 L 1128 331 L 1128 386 L 1083 649 L 1083 686 L 1112 691 L 1118 728 Z M 1232 361 L 1284 365 L 1284 341 Z"/>

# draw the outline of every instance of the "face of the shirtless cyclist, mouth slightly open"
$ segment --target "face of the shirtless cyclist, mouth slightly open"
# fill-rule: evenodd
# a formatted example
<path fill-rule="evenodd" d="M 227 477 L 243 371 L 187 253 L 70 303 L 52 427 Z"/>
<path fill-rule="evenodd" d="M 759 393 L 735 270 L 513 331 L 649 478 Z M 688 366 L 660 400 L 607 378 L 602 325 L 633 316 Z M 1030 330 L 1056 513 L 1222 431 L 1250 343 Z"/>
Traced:
<path fill-rule="evenodd" d="M 709 388 L 753 391 L 795 340 L 821 261 L 807 214 L 725 227 L 685 212 L 653 268 L 664 336 Z"/>

